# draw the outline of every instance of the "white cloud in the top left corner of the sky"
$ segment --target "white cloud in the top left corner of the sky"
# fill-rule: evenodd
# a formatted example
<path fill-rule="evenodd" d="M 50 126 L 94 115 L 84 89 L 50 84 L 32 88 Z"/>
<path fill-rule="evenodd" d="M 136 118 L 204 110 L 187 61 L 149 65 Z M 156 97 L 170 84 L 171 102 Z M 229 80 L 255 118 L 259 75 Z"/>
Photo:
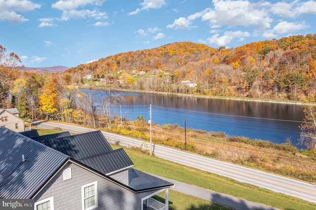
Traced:
<path fill-rule="evenodd" d="M 0 0 L 0 20 L 20 24 L 29 19 L 17 14 L 17 11 L 28 12 L 39 8 L 40 4 L 29 0 Z"/>

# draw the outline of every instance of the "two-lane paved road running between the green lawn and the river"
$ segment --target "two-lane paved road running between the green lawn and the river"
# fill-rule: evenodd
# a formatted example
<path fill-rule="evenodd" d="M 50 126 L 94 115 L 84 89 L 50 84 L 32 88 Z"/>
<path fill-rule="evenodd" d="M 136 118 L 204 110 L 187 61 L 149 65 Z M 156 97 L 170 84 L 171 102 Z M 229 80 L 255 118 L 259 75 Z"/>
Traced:
<path fill-rule="evenodd" d="M 54 122 L 37 121 L 35 122 L 35 126 L 39 126 L 41 128 L 60 128 L 72 133 L 84 133 L 94 131 L 93 129 L 59 124 Z M 140 146 L 143 143 L 143 141 L 140 140 L 134 140 L 131 138 L 122 137 L 106 132 L 102 133 L 109 142 L 115 143 L 116 141 L 119 141 L 120 145 L 122 146 Z M 315 183 L 308 183 L 280 175 L 265 173 L 159 145 L 154 145 L 153 151 L 157 157 L 163 159 L 195 167 L 197 169 L 208 171 L 214 174 L 227 176 L 241 182 L 250 183 L 262 188 L 273 190 L 275 192 L 280 192 L 293 197 L 301 198 L 309 202 L 316 203 Z"/>

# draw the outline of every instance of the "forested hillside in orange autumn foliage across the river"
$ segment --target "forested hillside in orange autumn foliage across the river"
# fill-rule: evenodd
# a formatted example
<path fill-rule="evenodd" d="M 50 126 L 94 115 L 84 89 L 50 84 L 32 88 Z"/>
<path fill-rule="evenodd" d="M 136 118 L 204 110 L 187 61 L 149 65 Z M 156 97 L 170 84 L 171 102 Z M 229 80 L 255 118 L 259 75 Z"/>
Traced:
<path fill-rule="evenodd" d="M 153 70 L 161 72 L 136 77 Z M 85 74 L 129 89 L 304 101 L 316 88 L 316 34 L 232 49 L 176 42 L 101 58 L 69 69 L 65 77 L 80 83 Z"/>

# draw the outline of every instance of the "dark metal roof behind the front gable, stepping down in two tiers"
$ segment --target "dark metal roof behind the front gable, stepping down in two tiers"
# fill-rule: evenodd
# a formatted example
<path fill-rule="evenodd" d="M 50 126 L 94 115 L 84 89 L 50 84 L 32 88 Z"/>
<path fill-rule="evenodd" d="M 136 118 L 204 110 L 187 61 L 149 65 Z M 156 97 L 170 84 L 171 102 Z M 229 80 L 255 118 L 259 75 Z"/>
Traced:
<path fill-rule="evenodd" d="M 40 142 L 105 175 L 133 166 L 125 151 L 113 150 L 101 131 Z"/>

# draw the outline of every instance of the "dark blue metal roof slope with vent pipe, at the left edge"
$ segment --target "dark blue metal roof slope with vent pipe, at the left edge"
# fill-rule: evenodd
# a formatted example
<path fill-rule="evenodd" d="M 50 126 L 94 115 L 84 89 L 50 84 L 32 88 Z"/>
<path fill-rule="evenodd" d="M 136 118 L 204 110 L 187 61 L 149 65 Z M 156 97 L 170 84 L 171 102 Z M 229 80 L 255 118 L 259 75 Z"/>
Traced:
<path fill-rule="evenodd" d="M 22 161 L 24 155 L 26 161 Z M 69 156 L 0 127 L 0 198 L 29 199 Z"/>

